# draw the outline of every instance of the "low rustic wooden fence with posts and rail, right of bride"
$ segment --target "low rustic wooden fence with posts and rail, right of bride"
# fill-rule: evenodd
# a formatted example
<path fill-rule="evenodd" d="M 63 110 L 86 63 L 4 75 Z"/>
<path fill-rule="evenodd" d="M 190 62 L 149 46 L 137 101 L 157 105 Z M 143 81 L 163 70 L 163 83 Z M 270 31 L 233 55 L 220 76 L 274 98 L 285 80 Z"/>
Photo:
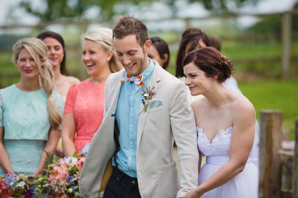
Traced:
<path fill-rule="evenodd" d="M 298 119 L 295 149 L 282 149 L 282 111 L 260 111 L 259 198 L 298 198 Z"/>

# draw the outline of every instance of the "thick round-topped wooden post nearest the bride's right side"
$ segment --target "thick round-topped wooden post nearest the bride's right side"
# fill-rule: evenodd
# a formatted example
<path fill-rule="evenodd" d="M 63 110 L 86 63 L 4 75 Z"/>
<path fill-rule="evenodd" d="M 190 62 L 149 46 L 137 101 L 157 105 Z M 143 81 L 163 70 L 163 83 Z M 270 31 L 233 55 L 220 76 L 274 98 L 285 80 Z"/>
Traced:
<path fill-rule="evenodd" d="M 282 121 L 282 111 L 260 111 L 259 198 L 281 197 Z"/>

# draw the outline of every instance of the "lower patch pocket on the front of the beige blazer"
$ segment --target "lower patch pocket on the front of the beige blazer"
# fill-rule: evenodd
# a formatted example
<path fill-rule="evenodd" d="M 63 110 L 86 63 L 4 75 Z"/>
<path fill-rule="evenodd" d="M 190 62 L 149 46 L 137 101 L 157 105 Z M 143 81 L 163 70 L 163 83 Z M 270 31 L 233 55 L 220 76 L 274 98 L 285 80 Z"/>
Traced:
<path fill-rule="evenodd" d="M 158 187 L 162 198 L 176 197 L 180 190 L 176 161 L 157 166 Z"/>

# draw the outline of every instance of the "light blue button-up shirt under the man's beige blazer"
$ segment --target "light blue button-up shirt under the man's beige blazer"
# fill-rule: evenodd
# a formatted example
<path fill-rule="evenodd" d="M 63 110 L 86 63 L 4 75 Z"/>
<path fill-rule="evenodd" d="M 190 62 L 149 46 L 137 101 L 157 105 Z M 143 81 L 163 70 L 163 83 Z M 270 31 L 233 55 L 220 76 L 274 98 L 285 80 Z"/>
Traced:
<path fill-rule="evenodd" d="M 154 61 L 150 60 L 150 64 L 145 71 L 140 75 L 144 76 L 143 81 L 145 85 L 148 84 L 153 69 L 155 67 Z M 146 91 L 145 85 L 138 91 L 135 91 L 135 85 L 131 81 L 122 83 L 117 109 L 116 109 L 116 121 L 119 128 L 119 143 L 120 150 L 117 153 L 116 162 L 118 168 L 130 177 L 137 177 L 137 132 L 138 132 L 138 120 L 140 108 L 144 108 L 142 105 L 142 91 Z M 142 105 L 140 107 L 140 105 Z M 115 161 L 113 159 L 113 165 Z"/>

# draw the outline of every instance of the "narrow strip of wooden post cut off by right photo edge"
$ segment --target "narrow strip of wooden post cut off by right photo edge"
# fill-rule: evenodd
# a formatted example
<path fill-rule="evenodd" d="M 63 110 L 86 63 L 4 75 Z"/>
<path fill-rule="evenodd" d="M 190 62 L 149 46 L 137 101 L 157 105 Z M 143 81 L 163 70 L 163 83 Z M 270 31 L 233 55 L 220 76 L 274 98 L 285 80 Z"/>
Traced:
<path fill-rule="evenodd" d="M 294 155 L 294 175 L 293 189 L 294 198 L 298 198 L 298 119 L 295 120 L 295 155 Z"/>

